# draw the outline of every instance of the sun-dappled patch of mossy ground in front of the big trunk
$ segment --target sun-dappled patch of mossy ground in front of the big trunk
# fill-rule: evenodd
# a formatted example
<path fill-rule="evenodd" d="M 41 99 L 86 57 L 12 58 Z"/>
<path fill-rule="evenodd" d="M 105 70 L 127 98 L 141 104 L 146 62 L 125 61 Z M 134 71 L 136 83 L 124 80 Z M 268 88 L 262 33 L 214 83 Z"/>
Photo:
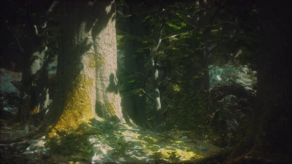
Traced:
<path fill-rule="evenodd" d="M 220 150 L 211 144 L 189 139 L 187 136 L 178 137 L 169 132 L 144 130 L 136 125 L 97 120 L 92 120 L 90 125 L 85 127 L 84 133 L 79 135 L 83 136 L 77 138 L 87 138 L 88 145 L 86 147 L 75 145 L 75 147 L 88 149 L 85 151 L 88 152 L 89 158 L 80 158 L 80 155 L 85 154 L 74 154 L 72 151 L 69 161 L 89 160 L 98 164 L 178 162 L 201 158 Z M 64 141 L 61 138 L 60 140 Z M 58 147 L 67 147 L 63 144 L 72 144 L 72 142 L 59 142 Z"/>

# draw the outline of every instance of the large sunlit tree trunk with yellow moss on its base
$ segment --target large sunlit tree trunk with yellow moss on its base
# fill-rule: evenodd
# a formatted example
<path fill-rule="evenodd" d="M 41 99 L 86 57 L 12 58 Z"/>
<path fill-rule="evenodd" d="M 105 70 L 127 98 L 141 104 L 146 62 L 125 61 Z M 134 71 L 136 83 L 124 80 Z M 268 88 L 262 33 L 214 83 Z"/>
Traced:
<path fill-rule="evenodd" d="M 125 122 L 117 85 L 115 3 L 60 3 L 55 129 L 76 130 L 96 116 Z"/>

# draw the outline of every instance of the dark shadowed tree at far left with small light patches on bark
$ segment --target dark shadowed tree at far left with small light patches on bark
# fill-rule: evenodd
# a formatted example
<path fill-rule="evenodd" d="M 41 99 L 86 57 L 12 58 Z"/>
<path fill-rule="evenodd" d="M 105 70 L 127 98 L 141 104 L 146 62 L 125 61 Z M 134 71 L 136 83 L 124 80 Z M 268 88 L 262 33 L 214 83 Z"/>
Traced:
<path fill-rule="evenodd" d="M 48 107 L 48 64 L 55 55 L 49 47 L 49 43 L 54 42 L 49 34 L 52 19 L 48 8 L 51 4 L 52 0 L 42 3 L 35 0 L 11 0 L 1 10 L 5 15 L 1 36 L 12 45 L 4 46 L 3 51 L 12 51 L 13 54 L 7 53 L 9 55 L 4 55 L 7 56 L 5 59 L 10 58 L 14 65 L 11 71 L 17 72 L 17 67 L 20 67 L 22 73 L 19 114 L 21 126 L 25 130 L 30 130 L 36 116 L 34 114 L 46 111 Z"/>

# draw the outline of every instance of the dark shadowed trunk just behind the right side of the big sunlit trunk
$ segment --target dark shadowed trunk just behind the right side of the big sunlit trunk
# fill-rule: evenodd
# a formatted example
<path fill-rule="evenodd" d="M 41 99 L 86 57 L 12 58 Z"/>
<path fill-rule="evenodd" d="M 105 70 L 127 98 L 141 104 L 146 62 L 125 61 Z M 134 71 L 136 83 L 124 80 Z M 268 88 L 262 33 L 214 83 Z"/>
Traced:
<path fill-rule="evenodd" d="M 138 13 L 141 8 L 139 3 L 124 4 L 123 15 L 118 18 L 120 36 L 118 48 L 124 55 L 122 65 L 122 107 L 129 117 L 144 128 L 149 128 L 146 117 L 146 95 L 141 94 L 141 88 L 144 88 L 145 82 L 145 62 L 146 57 L 141 50 L 144 37 L 143 23 L 141 15 Z M 130 16 L 129 16 L 130 15 Z M 140 50 L 140 51 L 139 51 Z M 140 92 L 139 92 L 140 91 Z"/>

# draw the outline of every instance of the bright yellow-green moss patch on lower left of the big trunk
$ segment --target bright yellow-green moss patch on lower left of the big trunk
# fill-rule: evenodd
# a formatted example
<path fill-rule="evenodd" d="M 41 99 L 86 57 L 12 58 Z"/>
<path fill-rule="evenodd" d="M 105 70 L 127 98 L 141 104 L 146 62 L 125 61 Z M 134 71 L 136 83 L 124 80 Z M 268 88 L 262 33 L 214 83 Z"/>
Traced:
<path fill-rule="evenodd" d="M 56 130 L 70 133 L 70 131 L 76 130 L 80 124 L 88 123 L 90 119 L 94 118 L 89 95 L 92 87 L 93 80 L 84 74 L 75 78 L 65 100 L 63 113 L 54 129 L 49 133 L 50 138 L 56 135 Z"/>

